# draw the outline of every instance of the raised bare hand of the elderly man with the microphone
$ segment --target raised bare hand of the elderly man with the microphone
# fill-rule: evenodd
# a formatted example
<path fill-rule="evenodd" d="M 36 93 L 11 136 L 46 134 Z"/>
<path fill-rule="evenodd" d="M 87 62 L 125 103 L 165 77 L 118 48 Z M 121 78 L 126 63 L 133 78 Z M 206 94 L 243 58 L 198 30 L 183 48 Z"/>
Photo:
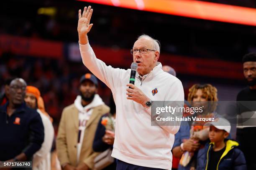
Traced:
<path fill-rule="evenodd" d="M 78 11 L 78 25 L 77 32 L 79 36 L 79 42 L 81 44 L 86 44 L 88 42 L 87 33 L 91 30 L 92 24 L 90 24 L 90 20 L 92 17 L 92 9 L 91 6 L 84 7 L 84 11 L 82 13 L 81 10 Z"/>

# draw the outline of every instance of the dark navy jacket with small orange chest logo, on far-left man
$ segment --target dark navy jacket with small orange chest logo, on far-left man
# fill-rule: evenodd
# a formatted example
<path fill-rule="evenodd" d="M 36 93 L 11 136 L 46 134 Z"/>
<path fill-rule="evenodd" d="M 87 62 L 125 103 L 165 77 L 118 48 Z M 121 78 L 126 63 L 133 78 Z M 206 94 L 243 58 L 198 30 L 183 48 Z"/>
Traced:
<path fill-rule="evenodd" d="M 20 153 L 25 153 L 31 160 L 44 142 L 41 117 L 25 102 L 9 117 L 6 112 L 8 104 L 0 107 L 0 161 L 13 159 Z"/>

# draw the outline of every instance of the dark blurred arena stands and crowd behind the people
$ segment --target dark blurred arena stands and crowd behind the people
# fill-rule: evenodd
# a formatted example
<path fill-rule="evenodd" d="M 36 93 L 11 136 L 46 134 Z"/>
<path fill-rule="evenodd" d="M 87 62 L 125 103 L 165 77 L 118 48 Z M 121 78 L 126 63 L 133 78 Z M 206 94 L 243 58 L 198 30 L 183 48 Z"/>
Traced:
<path fill-rule="evenodd" d="M 205 0 L 256 8 L 255 0 Z M 211 83 L 219 100 L 236 100 L 246 87 L 242 56 L 256 52 L 256 27 L 152 13 L 76 0 L 8 0 L 0 5 L 0 92 L 9 77 L 39 88 L 57 130 L 63 108 L 79 94 L 79 78 L 89 72 L 78 48 L 78 10 L 92 5 L 90 44 L 98 58 L 128 68 L 138 35 L 161 43 L 160 62 L 172 66 L 185 96 L 195 83 Z M 109 103 L 110 90 L 100 82 Z"/>

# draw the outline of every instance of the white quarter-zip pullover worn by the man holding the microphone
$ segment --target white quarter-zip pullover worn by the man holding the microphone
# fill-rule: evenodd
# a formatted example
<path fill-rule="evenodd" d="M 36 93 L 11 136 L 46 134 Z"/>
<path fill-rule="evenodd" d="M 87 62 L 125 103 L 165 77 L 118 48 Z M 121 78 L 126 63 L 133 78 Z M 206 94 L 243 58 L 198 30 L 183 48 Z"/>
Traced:
<path fill-rule="evenodd" d="M 89 43 L 79 47 L 84 65 L 113 92 L 116 124 L 112 156 L 133 165 L 171 170 L 171 150 L 179 126 L 151 126 L 151 109 L 126 98 L 131 69 L 107 66 L 96 58 Z M 184 101 L 181 81 L 161 68 L 158 62 L 148 75 L 139 78 L 137 73 L 136 87 L 153 101 Z"/>

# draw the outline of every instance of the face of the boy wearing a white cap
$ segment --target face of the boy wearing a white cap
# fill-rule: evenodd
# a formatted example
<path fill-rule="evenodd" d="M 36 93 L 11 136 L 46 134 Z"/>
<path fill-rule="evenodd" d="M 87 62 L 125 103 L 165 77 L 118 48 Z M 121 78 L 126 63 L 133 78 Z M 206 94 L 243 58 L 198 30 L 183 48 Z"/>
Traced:
<path fill-rule="evenodd" d="M 220 130 L 215 128 L 215 126 L 210 126 L 209 138 L 211 142 L 220 142 L 228 137 L 228 133 L 225 130 Z"/>

